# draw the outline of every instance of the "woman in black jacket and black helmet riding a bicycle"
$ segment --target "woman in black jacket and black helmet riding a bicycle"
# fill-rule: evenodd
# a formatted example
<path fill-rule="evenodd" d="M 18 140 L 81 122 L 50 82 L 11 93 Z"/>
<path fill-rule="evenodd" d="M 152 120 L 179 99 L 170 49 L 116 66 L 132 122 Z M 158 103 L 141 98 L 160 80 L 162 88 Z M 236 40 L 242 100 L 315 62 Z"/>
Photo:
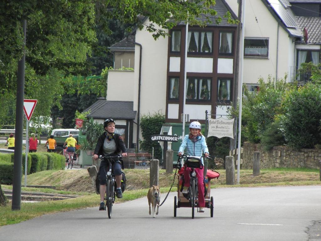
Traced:
<path fill-rule="evenodd" d="M 114 133 L 115 132 L 115 121 L 113 119 L 107 119 L 104 121 L 104 132 L 97 141 L 97 145 L 92 158 L 96 160 L 100 155 L 102 156 L 117 156 L 122 152 L 122 156 L 127 157 L 126 146 L 122 138 Z M 116 179 L 116 196 L 117 198 L 122 198 L 123 194 L 120 189 L 122 174 L 121 174 L 121 163 L 119 160 L 115 161 L 112 166 L 113 172 Z M 102 160 L 99 167 L 100 173 L 100 206 L 99 210 L 105 210 L 104 197 L 106 192 L 106 172 L 109 168 L 107 161 Z"/>

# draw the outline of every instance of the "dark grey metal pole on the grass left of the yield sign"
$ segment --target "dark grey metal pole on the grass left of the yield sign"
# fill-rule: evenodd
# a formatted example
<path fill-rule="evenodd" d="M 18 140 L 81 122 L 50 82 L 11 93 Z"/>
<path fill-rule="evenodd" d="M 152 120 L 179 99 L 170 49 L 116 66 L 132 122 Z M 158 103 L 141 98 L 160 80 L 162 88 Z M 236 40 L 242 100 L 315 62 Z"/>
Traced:
<path fill-rule="evenodd" d="M 11 210 L 21 209 L 21 169 L 22 169 L 22 130 L 23 130 L 23 98 L 24 98 L 24 69 L 25 69 L 25 45 L 27 20 L 22 20 L 23 25 L 23 55 L 18 62 L 17 73 L 17 100 L 16 100 L 16 123 L 15 144 L 13 161 L 13 186 Z"/>

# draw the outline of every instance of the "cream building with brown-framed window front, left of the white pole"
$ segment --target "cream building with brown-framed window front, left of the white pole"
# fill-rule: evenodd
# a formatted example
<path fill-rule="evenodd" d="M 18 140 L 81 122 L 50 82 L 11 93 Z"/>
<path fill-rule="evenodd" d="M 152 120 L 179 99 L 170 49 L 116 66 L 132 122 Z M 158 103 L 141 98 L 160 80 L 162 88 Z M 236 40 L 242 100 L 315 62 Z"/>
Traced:
<path fill-rule="evenodd" d="M 224 0 L 217 0 L 214 9 L 220 16 L 232 12 Z M 232 18 L 236 19 L 234 13 Z M 149 23 L 147 18 L 144 21 Z M 165 115 L 164 130 L 182 135 L 180 114 L 183 112 L 185 67 L 186 113 L 190 120 L 204 124 L 205 111 L 226 114 L 226 105 L 233 97 L 236 28 L 225 20 L 220 25 L 210 24 L 205 28 L 189 26 L 186 60 L 184 23 L 174 27 L 169 32 L 170 37 L 156 41 L 148 31 L 136 29 L 134 71 L 109 71 L 107 90 L 108 101 L 134 102 L 138 118 L 134 121 L 133 143 L 142 138 L 138 136 L 139 118 L 155 112 Z M 128 48 L 128 42 L 133 42 L 122 41 L 124 48 Z M 122 51 L 121 45 L 117 48 L 110 48 L 115 53 L 115 62 Z"/>

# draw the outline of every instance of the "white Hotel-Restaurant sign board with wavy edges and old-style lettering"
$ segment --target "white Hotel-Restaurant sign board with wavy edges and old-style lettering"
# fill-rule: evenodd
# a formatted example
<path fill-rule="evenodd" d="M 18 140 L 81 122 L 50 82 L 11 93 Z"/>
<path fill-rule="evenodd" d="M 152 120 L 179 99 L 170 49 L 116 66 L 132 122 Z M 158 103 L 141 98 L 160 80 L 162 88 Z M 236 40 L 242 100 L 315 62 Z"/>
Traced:
<path fill-rule="evenodd" d="M 230 120 L 226 120 L 222 117 L 218 119 L 208 118 L 207 137 L 210 137 L 210 136 L 215 136 L 217 138 L 230 137 L 234 139 L 233 125 L 234 125 L 234 118 Z"/>

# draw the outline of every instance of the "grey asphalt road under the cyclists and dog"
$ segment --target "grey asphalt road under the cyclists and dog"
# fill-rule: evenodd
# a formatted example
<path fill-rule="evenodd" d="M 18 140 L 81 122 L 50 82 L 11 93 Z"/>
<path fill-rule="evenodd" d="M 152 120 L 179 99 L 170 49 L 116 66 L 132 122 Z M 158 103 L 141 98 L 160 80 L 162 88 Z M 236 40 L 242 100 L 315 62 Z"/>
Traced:
<path fill-rule="evenodd" d="M 320 193 L 321 186 L 212 189 L 214 217 L 205 209 L 191 219 L 190 208 L 173 217 L 173 192 L 154 219 L 141 198 L 114 205 L 112 219 L 97 205 L 4 226 L 0 240 L 309 240 L 308 227 L 321 217 Z"/>

